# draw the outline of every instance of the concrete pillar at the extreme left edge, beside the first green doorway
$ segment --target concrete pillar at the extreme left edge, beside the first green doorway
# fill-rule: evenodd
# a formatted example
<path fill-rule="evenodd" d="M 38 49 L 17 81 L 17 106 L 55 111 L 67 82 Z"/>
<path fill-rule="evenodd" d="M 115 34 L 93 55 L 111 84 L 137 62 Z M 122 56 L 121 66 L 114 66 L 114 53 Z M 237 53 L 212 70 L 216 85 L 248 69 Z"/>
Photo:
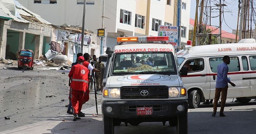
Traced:
<path fill-rule="evenodd" d="M 7 29 L 4 27 L 4 20 L 0 19 L 0 58 L 5 58 Z"/>

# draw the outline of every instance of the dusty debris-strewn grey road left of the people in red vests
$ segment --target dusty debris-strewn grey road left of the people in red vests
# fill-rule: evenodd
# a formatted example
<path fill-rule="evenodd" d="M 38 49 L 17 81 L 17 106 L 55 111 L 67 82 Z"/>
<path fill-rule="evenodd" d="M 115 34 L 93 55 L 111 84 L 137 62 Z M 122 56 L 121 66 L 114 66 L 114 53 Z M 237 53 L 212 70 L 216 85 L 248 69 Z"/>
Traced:
<path fill-rule="evenodd" d="M 20 71 L 16 66 L 0 65 L 0 130 L 40 122 L 66 114 L 68 73 L 56 70 Z M 101 95 L 97 95 L 98 104 Z M 83 108 L 95 106 L 94 92 Z M 5 119 L 6 118 L 10 118 Z"/>

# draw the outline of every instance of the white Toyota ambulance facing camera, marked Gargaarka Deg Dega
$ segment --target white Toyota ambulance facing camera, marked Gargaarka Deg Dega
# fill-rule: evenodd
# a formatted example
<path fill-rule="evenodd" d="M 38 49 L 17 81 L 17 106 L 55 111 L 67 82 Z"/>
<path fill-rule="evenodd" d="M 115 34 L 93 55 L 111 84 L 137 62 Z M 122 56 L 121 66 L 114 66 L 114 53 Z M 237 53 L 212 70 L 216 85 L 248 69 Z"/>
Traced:
<path fill-rule="evenodd" d="M 187 134 L 188 101 L 177 67 L 174 47 L 162 37 L 118 37 L 133 44 L 108 47 L 103 79 L 104 134 L 121 122 L 165 122 Z M 158 43 L 153 43 L 158 41 Z M 187 73 L 187 72 L 185 72 Z"/>

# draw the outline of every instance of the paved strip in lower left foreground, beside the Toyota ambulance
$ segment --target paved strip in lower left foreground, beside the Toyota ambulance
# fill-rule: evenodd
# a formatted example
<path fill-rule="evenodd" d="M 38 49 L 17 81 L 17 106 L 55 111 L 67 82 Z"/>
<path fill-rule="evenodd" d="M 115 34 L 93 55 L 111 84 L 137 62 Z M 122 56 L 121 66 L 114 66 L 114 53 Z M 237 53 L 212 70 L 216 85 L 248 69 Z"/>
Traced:
<path fill-rule="evenodd" d="M 83 109 L 82 112 L 85 113 L 85 117 L 78 121 L 72 121 L 74 116 L 66 114 L 59 118 L 0 132 L 0 134 L 102 134 L 101 105 L 98 105 L 98 115 L 96 106 Z"/>

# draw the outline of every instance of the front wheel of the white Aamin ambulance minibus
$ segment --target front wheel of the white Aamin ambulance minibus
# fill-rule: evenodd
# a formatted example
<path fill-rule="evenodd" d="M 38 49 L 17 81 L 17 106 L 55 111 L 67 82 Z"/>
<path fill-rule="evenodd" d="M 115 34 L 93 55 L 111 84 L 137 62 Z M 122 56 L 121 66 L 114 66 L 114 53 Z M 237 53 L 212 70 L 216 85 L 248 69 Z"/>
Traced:
<path fill-rule="evenodd" d="M 197 90 L 191 91 L 188 95 L 188 104 L 190 108 L 198 108 L 200 105 L 200 94 Z"/>

